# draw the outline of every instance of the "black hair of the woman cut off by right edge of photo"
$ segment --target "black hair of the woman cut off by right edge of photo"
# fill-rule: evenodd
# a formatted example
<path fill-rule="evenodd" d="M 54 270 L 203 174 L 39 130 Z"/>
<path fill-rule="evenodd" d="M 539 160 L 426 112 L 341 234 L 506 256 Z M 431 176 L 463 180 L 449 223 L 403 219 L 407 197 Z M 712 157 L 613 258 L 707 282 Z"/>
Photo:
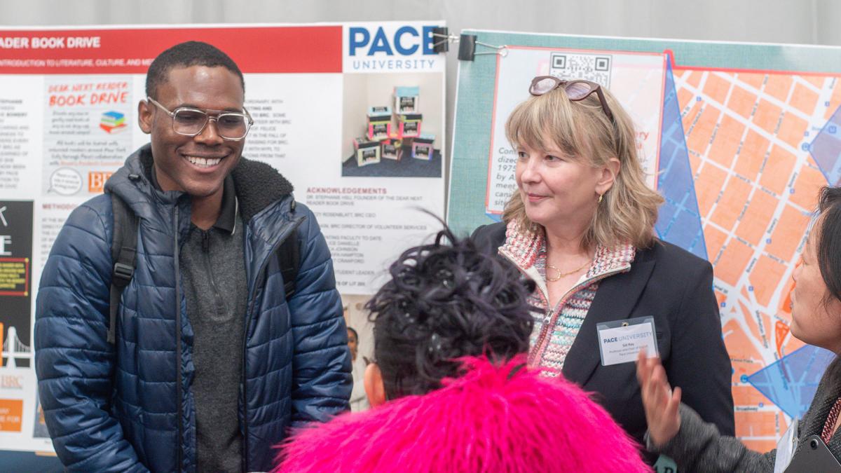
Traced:
<path fill-rule="evenodd" d="M 821 189 L 817 211 L 820 215 L 817 265 L 827 284 L 827 297 L 841 300 L 841 188 Z"/>

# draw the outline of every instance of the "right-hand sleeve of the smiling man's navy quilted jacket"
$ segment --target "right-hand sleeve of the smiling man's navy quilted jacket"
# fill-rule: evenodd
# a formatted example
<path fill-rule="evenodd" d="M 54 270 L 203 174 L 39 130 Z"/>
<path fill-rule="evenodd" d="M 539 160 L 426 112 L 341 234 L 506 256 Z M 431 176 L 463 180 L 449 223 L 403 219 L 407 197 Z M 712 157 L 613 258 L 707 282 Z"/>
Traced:
<path fill-rule="evenodd" d="M 333 261 L 315 215 L 304 205 L 298 230 L 301 263 L 288 301 L 294 337 L 292 421 L 324 422 L 350 408 L 352 376 L 347 330 Z"/>

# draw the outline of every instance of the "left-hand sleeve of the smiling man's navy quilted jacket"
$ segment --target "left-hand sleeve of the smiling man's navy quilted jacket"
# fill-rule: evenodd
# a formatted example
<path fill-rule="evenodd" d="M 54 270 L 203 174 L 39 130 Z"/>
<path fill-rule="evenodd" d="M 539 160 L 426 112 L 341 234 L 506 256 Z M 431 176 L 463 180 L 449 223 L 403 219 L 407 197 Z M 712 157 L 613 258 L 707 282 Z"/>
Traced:
<path fill-rule="evenodd" d="M 53 244 L 36 302 L 40 401 L 56 453 L 70 471 L 146 471 L 109 412 L 109 215 L 90 204 L 73 211 Z"/>

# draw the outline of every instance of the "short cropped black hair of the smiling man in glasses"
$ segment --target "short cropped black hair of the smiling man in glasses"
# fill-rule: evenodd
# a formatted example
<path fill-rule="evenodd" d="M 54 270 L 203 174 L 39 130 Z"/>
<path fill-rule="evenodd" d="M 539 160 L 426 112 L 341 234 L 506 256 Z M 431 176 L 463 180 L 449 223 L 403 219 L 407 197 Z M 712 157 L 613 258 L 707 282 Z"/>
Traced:
<path fill-rule="evenodd" d="M 214 45 L 201 41 L 187 41 L 172 46 L 159 54 L 146 72 L 146 96 L 157 98 L 157 88 L 167 82 L 167 75 L 176 67 L 205 66 L 225 67 L 240 77 L 243 93 L 246 81 L 234 60 Z"/>

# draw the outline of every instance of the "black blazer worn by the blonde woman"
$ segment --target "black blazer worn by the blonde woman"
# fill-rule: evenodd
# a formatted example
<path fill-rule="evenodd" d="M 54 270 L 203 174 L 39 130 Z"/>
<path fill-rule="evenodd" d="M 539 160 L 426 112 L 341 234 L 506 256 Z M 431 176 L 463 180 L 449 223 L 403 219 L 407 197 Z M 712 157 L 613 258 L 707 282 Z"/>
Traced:
<path fill-rule="evenodd" d="M 505 224 L 480 226 L 473 241 L 499 254 Z M 503 258 L 503 257 L 500 257 Z M 712 266 L 680 247 L 657 241 L 638 250 L 627 273 L 602 279 L 563 363 L 563 375 L 595 393 L 616 422 L 643 444 L 645 412 L 633 363 L 601 366 L 596 324 L 653 316 L 669 383 L 683 402 L 723 435 L 733 435 L 733 375 L 712 290 Z"/>

